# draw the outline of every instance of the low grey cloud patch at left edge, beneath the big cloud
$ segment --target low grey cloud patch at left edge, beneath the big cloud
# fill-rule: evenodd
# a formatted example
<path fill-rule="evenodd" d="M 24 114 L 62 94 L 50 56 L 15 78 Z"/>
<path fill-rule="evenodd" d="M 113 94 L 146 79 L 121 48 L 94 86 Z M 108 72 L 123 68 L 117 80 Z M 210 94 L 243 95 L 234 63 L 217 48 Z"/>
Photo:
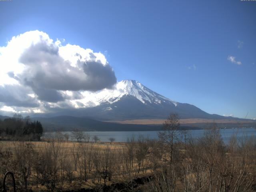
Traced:
<path fill-rule="evenodd" d="M 36 98 L 28 96 L 28 88 L 19 85 L 0 86 L 0 102 L 6 106 L 38 107 Z"/>

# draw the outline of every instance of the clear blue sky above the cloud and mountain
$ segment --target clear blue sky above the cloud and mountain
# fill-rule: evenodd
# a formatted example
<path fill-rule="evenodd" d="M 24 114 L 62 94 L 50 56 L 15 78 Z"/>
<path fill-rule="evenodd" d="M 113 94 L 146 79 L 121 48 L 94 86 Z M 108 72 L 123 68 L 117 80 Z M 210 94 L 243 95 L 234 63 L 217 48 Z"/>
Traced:
<path fill-rule="evenodd" d="M 104 53 L 118 81 L 256 118 L 256 1 L 0 1 L 0 46 L 30 30 Z"/>

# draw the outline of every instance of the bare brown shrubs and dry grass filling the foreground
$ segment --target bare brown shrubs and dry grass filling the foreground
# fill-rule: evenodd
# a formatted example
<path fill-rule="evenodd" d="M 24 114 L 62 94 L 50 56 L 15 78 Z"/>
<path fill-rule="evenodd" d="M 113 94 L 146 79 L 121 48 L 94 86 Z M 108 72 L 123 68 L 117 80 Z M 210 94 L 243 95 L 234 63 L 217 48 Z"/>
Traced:
<path fill-rule="evenodd" d="M 113 183 L 123 185 L 112 191 L 256 190 L 256 138 L 234 136 L 224 144 L 214 126 L 198 139 L 178 127 L 178 118 L 170 116 L 158 140 L 139 136 L 126 143 L 89 142 L 88 135 L 67 142 L 61 133 L 43 142 L 2 141 L 0 180 L 14 172 L 19 191 L 102 191 Z M 141 177 L 148 179 L 138 186 L 134 180 Z"/>

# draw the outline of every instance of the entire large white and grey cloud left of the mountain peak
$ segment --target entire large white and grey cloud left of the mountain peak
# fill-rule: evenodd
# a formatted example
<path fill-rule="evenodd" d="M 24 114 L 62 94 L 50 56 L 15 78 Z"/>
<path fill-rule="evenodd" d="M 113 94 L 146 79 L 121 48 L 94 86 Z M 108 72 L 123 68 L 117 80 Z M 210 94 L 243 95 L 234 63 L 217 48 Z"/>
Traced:
<path fill-rule="evenodd" d="M 81 91 L 111 88 L 115 83 L 103 54 L 62 45 L 38 30 L 14 36 L 0 47 L 0 104 L 16 111 L 19 107 L 40 112 L 46 106 L 72 107 L 72 100 L 82 99 Z"/>

